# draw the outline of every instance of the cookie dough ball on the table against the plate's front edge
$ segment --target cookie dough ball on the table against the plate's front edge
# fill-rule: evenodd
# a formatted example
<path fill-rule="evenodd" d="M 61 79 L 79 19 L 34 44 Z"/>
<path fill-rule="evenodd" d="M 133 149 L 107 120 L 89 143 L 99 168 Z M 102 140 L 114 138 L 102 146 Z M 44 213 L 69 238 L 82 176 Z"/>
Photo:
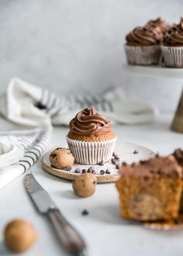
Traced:
<path fill-rule="evenodd" d="M 95 193 L 97 178 L 91 173 L 77 176 L 72 185 L 74 193 L 81 197 L 87 197 Z"/>

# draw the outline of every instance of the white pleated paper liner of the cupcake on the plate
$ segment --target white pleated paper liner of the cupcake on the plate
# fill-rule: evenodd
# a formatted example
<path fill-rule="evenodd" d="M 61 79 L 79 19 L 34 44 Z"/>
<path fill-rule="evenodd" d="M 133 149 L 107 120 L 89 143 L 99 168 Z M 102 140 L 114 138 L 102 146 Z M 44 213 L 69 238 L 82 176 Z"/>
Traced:
<path fill-rule="evenodd" d="M 67 144 L 75 161 L 79 164 L 98 164 L 111 159 L 116 138 L 104 141 L 71 140 L 67 137 Z"/>

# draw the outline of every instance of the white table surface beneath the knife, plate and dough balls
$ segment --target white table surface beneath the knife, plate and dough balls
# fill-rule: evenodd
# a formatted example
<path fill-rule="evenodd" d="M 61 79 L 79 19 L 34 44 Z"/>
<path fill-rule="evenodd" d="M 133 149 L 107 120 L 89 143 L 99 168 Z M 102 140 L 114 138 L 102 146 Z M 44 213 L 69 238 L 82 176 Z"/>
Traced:
<path fill-rule="evenodd" d="M 115 126 L 118 144 L 133 142 L 161 154 L 171 153 L 183 147 L 183 134 L 169 130 L 172 116 L 160 116 L 155 123 L 138 126 Z M 66 146 L 67 128 L 55 128 L 50 148 L 58 144 Z M 33 174 L 57 203 L 74 227 L 78 228 L 88 244 L 88 256 L 181 256 L 183 254 L 183 230 L 147 230 L 140 224 L 128 223 L 119 216 L 119 200 L 115 184 L 100 184 L 95 195 L 86 199 L 74 195 L 71 182 L 49 175 L 33 166 Z M 23 218 L 33 223 L 38 240 L 22 256 L 67 255 L 57 242 L 48 221 L 40 216 L 23 186 L 23 175 L 0 191 L 0 255 L 12 255 L 3 244 L 3 229 L 12 219 Z M 88 209 L 89 215 L 81 211 Z"/>

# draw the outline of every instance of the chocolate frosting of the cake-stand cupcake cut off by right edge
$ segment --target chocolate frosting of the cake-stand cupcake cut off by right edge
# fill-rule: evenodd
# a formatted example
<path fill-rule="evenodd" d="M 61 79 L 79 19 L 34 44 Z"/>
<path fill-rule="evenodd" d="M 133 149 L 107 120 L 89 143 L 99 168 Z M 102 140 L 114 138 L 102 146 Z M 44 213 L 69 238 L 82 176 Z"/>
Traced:
<path fill-rule="evenodd" d="M 183 17 L 178 25 L 174 25 L 169 33 L 164 37 L 164 43 L 167 45 L 183 44 Z"/>

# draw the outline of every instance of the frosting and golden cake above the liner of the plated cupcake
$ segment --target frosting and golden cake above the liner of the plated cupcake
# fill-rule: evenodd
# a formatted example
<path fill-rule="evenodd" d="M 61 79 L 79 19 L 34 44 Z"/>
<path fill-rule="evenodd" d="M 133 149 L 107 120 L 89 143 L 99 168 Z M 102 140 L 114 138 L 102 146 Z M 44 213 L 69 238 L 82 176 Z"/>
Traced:
<path fill-rule="evenodd" d="M 95 111 L 94 107 L 83 109 L 71 119 L 68 137 L 73 140 L 95 141 L 116 137 L 112 132 L 112 123 Z"/>

